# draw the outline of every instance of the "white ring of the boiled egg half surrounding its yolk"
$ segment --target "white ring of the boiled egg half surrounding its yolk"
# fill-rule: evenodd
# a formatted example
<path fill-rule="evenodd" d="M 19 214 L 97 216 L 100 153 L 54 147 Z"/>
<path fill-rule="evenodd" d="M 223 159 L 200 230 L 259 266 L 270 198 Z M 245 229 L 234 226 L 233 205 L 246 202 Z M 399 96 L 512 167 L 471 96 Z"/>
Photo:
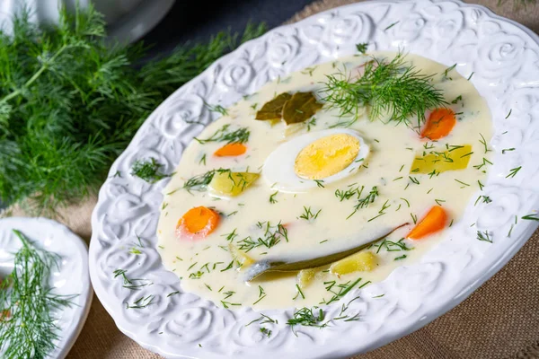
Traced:
<path fill-rule="evenodd" d="M 311 188 L 318 187 L 314 180 L 305 180 L 296 175 L 294 164 L 297 155 L 307 145 L 312 144 L 319 138 L 331 135 L 346 134 L 354 136 L 359 141 L 359 152 L 353 162 L 345 169 L 323 179 L 323 184 L 342 180 L 351 174 L 357 172 L 363 162 L 367 160 L 369 147 L 363 137 L 359 136 L 357 131 L 348 128 L 333 128 L 322 131 L 308 133 L 302 136 L 292 138 L 290 141 L 279 145 L 266 159 L 262 167 L 262 176 L 271 188 L 282 192 L 301 193 Z M 364 161 L 359 161 L 363 159 Z"/>

